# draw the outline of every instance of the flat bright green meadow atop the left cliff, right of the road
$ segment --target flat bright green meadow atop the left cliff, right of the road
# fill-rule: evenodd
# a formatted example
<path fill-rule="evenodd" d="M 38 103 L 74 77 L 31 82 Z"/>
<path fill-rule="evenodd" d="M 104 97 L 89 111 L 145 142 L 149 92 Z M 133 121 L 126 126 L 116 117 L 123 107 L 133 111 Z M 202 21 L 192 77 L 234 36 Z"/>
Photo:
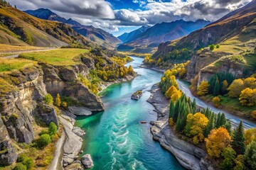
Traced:
<path fill-rule="evenodd" d="M 88 52 L 88 50 L 77 48 L 57 49 L 43 52 L 26 52 L 18 57 L 53 65 L 74 65 L 77 63 L 75 57 L 85 52 Z"/>

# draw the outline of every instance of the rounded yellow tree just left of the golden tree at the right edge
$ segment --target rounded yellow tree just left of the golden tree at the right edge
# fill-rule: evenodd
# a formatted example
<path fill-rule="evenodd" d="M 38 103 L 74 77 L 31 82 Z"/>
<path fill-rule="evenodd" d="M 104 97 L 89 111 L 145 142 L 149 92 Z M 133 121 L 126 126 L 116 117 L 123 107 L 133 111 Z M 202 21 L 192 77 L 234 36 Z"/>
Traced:
<path fill-rule="evenodd" d="M 245 89 L 244 81 L 242 81 L 242 79 L 235 79 L 228 87 L 228 96 L 233 98 L 238 97 L 240 96 L 242 89 Z"/>

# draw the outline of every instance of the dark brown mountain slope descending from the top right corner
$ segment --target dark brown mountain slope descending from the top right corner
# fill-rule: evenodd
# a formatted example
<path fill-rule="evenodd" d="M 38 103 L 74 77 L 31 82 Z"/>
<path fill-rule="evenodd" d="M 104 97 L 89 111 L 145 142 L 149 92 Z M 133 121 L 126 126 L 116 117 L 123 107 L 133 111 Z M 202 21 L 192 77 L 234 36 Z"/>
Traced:
<path fill-rule="evenodd" d="M 218 44 L 238 35 L 242 29 L 247 26 L 256 17 L 256 1 L 253 0 L 250 4 L 228 13 L 218 21 L 210 23 L 208 26 L 196 30 L 193 33 L 176 40 L 174 42 L 165 42 L 159 45 L 159 50 L 154 54 L 167 55 L 168 52 L 183 47 L 189 50 L 198 50 L 201 47 L 207 47 L 210 44 Z"/>

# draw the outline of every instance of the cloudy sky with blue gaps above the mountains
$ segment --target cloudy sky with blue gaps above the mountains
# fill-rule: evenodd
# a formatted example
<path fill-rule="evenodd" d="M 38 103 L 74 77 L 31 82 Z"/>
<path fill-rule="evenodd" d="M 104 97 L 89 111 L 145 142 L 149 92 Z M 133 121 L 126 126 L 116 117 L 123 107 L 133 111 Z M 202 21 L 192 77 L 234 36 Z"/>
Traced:
<path fill-rule="evenodd" d="M 215 21 L 251 0 L 7 0 L 21 10 L 49 8 L 114 35 L 177 19 Z"/>

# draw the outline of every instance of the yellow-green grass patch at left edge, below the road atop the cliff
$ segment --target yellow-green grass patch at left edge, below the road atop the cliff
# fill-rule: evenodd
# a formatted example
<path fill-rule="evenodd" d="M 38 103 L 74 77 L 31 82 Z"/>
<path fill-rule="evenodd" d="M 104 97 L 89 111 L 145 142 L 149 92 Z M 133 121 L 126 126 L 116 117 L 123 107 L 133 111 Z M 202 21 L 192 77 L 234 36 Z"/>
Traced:
<path fill-rule="evenodd" d="M 36 62 L 24 59 L 1 59 L 0 58 L 0 72 L 11 72 L 15 69 L 21 69 L 26 66 L 31 66 Z"/>

